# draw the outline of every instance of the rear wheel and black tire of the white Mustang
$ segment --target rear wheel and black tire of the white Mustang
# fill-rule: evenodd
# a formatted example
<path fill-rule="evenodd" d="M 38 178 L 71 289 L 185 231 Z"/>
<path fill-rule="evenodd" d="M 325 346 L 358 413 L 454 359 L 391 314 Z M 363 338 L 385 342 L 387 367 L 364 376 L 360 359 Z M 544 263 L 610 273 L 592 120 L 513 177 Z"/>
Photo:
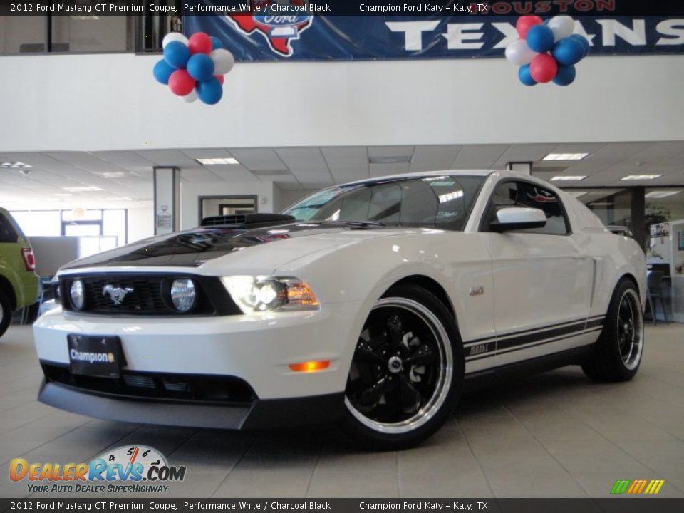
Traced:
<path fill-rule="evenodd" d="M 643 311 L 636 284 L 623 279 L 616 286 L 603 331 L 582 370 L 598 382 L 628 381 L 634 377 L 643 354 Z"/>

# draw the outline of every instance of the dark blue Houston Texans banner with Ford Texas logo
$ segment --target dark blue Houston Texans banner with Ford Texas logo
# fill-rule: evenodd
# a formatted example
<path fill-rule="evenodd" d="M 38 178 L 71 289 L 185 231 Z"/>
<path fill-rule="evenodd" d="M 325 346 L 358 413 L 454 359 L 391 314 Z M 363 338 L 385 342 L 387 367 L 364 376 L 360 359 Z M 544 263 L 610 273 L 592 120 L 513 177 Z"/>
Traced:
<path fill-rule="evenodd" d="M 237 61 L 501 57 L 518 16 L 323 16 L 226 14 L 184 17 L 187 35 L 219 38 Z M 684 53 L 684 18 L 574 16 L 592 55 Z"/>

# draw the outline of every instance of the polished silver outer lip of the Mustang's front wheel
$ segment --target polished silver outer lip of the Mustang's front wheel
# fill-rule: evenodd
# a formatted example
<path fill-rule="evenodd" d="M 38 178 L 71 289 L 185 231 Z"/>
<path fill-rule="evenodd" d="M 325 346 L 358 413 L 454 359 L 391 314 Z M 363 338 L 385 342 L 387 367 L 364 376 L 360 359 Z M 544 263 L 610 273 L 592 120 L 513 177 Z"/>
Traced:
<path fill-rule="evenodd" d="M 440 352 L 441 362 L 439 369 L 440 373 L 437 378 L 437 385 L 435 385 L 435 392 L 432 393 L 432 397 L 427 401 L 425 406 L 420 408 L 415 415 L 398 423 L 381 423 L 377 420 L 366 417 L 366 415 L 363 415 L 363 413 L 354 408 L 346 395 L 344 397 L 344 404 L 354 418 L 356 418 L 356 420 L 366 427 L 371 428 L 371 430 L 381 433 L 400 435 L 402 433 L 411 432 L 418 429 L 418 427 L 425 425 L 425 423 L 434 417 L 440 408 L 442 408 L 442 405 L 445 403 L 447 395 L 449 394 L 453 380 L 454 357 L 447 331 L 442 325 L 442 322 L 437 318 L 437 316 L 435 316 L 435 314 L 432 313 L 432 311 L 430 311 L 430 309 L 427 309 L 427 307 L 418 303 L 418 301 L 413 301 L 413 299 L 394 297 L 380 299 L 380 301 L 375 303 L 371 311 L 386 308 L 388 306 L 405 309 L 420 317 L 423 322 L 425 322 L 427 328 L 429 328 L 432 332 L 432 336 L 435 337 L 435 341 L 437 341 L 437 348 Z"/>

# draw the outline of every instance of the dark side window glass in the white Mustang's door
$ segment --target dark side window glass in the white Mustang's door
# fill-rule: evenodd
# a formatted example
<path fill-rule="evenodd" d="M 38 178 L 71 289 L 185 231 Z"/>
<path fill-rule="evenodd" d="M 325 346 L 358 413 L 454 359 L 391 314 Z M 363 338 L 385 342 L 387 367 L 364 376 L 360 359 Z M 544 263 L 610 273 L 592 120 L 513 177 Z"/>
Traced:
<path fill-rule="evenodd" d="M 566 235 L 569 224 L 561 200 L 554 192 L 529 182 L 504 182 L 497 186 L 487 212 L 487 223 L 494 221 L 497 211 L 504 207 L 531 207 L 544 211 L 546 225 L 520 230 L 523 233 Z"/>

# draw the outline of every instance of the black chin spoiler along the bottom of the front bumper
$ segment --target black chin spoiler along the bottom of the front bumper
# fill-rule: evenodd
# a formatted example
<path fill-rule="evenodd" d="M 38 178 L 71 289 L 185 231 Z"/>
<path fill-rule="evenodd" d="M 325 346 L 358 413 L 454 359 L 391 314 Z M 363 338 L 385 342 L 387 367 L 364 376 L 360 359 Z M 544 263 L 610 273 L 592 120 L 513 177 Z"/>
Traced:
<path fill-rule="evenodd" d="M 343 412 L 344 394 L 255 400 L 245 405 L 198 404 L 190 401 L 123 399 L 43 380 L 38 400 L 61 410 L 105 420 L 261 430 L 333 422 Z"/>

